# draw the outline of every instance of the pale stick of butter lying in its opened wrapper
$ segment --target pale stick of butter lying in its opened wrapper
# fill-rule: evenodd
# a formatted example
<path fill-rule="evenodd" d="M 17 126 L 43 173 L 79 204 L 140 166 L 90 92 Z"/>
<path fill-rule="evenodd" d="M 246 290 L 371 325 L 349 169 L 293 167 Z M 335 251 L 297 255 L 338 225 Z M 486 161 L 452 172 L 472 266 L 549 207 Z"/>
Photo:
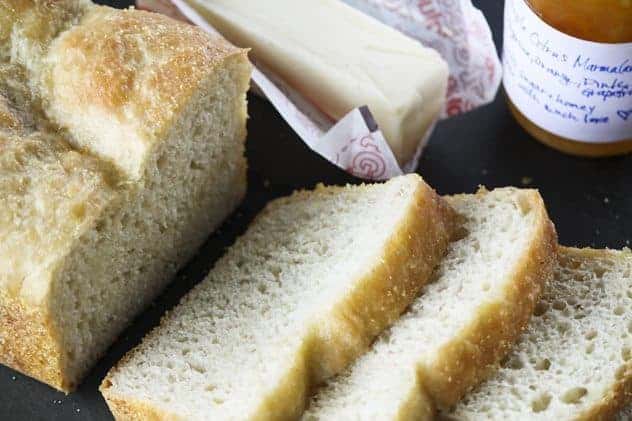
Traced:
<path fill-rule="evenodd" d="M 334 120 L 368 105 L 400 165 L 445 102 L 439 54 L 340 0 L 187 0 Z"/>

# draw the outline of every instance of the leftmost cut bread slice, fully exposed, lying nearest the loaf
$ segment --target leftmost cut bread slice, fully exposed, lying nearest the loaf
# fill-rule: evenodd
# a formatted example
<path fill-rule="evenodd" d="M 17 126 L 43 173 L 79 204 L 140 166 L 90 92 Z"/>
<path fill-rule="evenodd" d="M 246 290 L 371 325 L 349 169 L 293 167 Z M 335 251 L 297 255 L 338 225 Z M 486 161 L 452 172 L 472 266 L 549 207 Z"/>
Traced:
<path fill-rule="evenodd" d="M 101 391 L 117 419 L 291 419 L 413 300 L 452 212 L 417 175 L 269 204 Z"/>

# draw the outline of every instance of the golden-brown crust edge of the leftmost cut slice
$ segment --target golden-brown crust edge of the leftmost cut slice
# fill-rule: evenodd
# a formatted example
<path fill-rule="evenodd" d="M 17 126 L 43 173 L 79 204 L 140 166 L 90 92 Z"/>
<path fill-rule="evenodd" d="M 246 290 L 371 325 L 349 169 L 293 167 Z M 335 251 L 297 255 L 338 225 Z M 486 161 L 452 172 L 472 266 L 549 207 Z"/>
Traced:
<path fill-rule="evenodd" d="M 419 295 L 453 235 L 456 215 L 421 177 L 414 200 L 371 273 L 323 320 L 312 363 L 316 384 L 339 373 L 363 354 Z M 331 344 L 335 344 L 332 346 Z"/>

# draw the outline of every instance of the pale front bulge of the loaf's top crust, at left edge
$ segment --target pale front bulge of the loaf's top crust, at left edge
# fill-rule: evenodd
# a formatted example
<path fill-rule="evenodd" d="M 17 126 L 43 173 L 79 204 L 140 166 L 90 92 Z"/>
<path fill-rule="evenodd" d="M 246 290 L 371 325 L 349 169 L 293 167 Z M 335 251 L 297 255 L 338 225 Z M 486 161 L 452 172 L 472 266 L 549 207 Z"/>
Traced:
<path fill-rule="evenodd" d="M 98 161 L 54 136 L 0 130 L 0 151 L 0 285 L 35 304 L 49 267 L 112 203 L 114 187 Z"/>

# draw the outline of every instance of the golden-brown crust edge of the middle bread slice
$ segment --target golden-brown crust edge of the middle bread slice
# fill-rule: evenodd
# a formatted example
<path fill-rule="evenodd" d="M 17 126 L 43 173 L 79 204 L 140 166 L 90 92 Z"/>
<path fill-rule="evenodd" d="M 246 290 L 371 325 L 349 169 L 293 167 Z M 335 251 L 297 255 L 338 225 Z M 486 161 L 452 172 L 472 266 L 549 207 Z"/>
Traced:
<path fill-rule="evenodd" d="M 482 308 L 462 334 L 438 353 L 440 359 L 425 370 L 424 385 L 438 407 L 450 407 L 493 370 L 520 337 L 552 274 L 557 236 L 540 195 L 528 192 L 537 212 L 536 229 L 503 296 Z M 432 373 L 437 373 L 433 375 Z"/>

